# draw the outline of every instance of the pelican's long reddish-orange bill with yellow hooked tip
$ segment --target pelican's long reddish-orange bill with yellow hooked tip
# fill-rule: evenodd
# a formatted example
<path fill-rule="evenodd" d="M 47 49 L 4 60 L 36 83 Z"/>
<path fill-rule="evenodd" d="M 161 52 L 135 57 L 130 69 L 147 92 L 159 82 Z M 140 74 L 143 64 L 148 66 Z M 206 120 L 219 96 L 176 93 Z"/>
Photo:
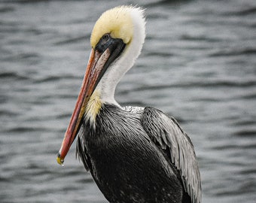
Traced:
<path fill-rule="evenodd" d="M 90 53 L 90 59 L 84 74 L 84 80 L 78 95 L 75 110 L 73 111 L 56 159 L 60 165 L 63 165 L 64 159 L 69 152 L 69 148 L 75 140 L 76 135 L 78 135 L 90 95 L 92 95 L 97 83 L 99 83 L 105 63 L 108 61 L 110 55 L 111 51 L 109 49 L 106 49 L 103 53 L 99 53 L 99 51 L 92 49 Z"/>

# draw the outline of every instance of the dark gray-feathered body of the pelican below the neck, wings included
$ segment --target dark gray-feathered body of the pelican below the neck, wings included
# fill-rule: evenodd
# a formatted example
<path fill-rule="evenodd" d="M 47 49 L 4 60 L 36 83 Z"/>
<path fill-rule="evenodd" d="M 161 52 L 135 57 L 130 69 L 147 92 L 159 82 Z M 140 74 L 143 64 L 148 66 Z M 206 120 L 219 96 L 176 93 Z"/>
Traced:
<path fill-rule="evenodd" d="M 102 105 L 95 126 L 82 121 L 77 153 L 112 203 L 201 200 L 193 144 L 157 109 Z"/>

